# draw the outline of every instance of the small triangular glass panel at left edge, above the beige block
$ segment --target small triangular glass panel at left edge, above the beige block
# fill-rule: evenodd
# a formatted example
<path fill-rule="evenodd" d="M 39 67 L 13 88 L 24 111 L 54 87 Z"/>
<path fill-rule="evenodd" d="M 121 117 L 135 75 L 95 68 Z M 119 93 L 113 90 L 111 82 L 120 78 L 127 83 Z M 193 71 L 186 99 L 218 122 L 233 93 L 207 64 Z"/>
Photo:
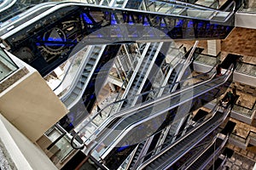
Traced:
<path fill-rule="evenodd" d="M 0 80 L 8 77 L 9 74 L 16 71 L 18 66 L 9 58 L 9 56 L 0 48 Z"/>

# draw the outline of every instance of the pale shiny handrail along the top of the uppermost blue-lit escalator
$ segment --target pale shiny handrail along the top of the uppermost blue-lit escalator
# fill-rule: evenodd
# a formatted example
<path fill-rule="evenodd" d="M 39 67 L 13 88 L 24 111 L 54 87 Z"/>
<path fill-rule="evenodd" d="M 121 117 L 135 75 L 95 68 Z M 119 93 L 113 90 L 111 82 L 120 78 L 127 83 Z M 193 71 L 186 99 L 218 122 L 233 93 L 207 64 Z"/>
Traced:
<path fill-rule="evenodd" d="M 9 31 L 8 33 L 4 34 L 2 36 L 2 39 L 6 39 L 7 37 L 10 37 L 11 35 L 15 34 L 16 32 L 24 29 L 25 27 L 27 26 L 30 26 L 32 23 L 44 18 L 44 16 L 48 15 L 48 14 L 51 14 L 53 12 L 55 12 L 56 10 L 60 9 L 60 8 L 65 8 L 67 6 L 82 6 L 82 7 L 92 7 L 92 8 L 106 8 L 106 9 L 109 9 L 109 10 L 121 10 L 121 11 L 129 11 L 129 12 L 139 12 L 139 13 L 143 13 L 143 14 L 158 14 L 158 15 L 165 15 L 165 16 L 171 16 L 171 17 L 177 17 L 177 14 L 162 14 L 162 13 L 158 13 L 158 12 L 151 12 L 151 11 L 143 11 L 143 10 L 137 10 L 137 9 L 132 9 L 132 8 L 113 8 L 113 7 L 102 7 L 102 6 L 99 6 L 99 5 L 94 5 L 94 4 L 85 4 L 85 3 L 69 3 L 69 2 L 64 2 L 64 3 L 56 3 L 56 5 L 52 8 L 49 8 L 47 11 L 44 11 L 44 13 L 42 14 L 39 14 L 38 16 L 35 16 L 32 20 L 29 20 L 27 21 L 26 23 L 20 25 L 20 26 L 17 26 L 15 27 L 13 30 Z M 212 9 L 209 9 L 209 10 L 212 10 Z M 212 10 L 213 11 L 213 10 Z M 219 11 L 219 10 L 216 10 L 218 11 L 219 13 L 222 13 L 223 11 Z M 231 13 L 234 13 L 234 12 L 231 12 Z M 229 15 L 230 16 L 230 15 Z M 198 17 L 189 17 L 189 16 L 180 16 L 180 17 L 183 17 L 183 18 L 188 18 L 188 19 L 195 19 L 195 20 L 207 20 L 207 19 L 202 19 L 202 18 L 198 18 Z M 219 21 L 219 20 L 211 20 L 211 21 L 218 21 L 219 23 L 224 23 L 226 20 L 229 20 L 230 17 L 226 17 L 225 20 L 222 20 L 222 21 Z"/>

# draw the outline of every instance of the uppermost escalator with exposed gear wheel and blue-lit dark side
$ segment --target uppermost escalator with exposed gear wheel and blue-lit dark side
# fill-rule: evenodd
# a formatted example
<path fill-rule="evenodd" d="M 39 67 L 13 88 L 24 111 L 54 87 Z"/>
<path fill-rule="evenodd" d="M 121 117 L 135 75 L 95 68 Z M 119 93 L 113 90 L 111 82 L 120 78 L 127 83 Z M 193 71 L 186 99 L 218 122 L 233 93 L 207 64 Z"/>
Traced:
<path fill-rule="evenodd" d="M 228 36 L 234 27 L 232 11 L 199 8 L 197 10 L 210 14 L 201 17 L 187 15 L 191 10 L 193 8 L 183 7 L 183 14 L 175 15 L 83 3 L 57 3 L 41 14 L 33 14 L 32 20 L 1 31 L 1 38 L 11 53 L 45 76 L 85 45 L 171 41 L 170 37 L 219 39 Z"/>

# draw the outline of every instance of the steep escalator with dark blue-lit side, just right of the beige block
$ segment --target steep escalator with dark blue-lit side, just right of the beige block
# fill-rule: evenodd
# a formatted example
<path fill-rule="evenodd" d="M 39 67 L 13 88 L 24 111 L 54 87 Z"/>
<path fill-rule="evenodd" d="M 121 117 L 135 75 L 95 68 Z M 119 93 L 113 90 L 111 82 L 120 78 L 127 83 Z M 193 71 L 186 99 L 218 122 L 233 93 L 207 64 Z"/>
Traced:
<path fill-rule="evenodd" d="M 107 80 L 110 69 L 113 67 L 113 58 L 119 53 L 120 46 L 120 44 L 108 45 L 106 47 L 105 45 L 95 46 L 94 49 L 96 51 L 92 50 L 92 53 L 88 58 L 90 60 L 88 61 L 96 61 L 95 65 L 93 66 L 94 71 L 90 71 L 90 78 L 86 79 L 86 82 L 82 82 L 82 84 L 84 84 L 84 87 L 83 90 L 79 90 L 80 94 L 73 95 L 76 99 L 71 98 L 71 101 L 73 101 L 73 103 L 72 105 L 69 105 L 69 113 L 67 114 L 67 116 L 61 118 L 61 121 L 59 122 L 61 127 L 63 127 L 67 132 L 70 132 L 73 127 L 76 127 L 80 122 L 84 120 L 84 117 L 89 115 L 90 111 L 93 108 L 93 105 L 96 102 L 98 93 L 100 92 L 100 89 L 102 89 L 102 86 Z M 101 50 L 100 53 L 99 50 Z M 91 57 L 96 57 L 96 55 L 99 56 L 98 54 L 101 57 L 97 57 L 96 60 L 91 60 Z M 79 77 L 78 84 L 75 83 L 74 85 L 79 85 L 79 82 L 81 82 L 81 78 L 82 81 L 85 81 L 84 74 L 88 72 L 87 69 L 92 66 L 92 63 L 86 63 L 85 66 L 88 67 L 84 67 L 84 70 L 83 72 L 81 72 L 81 75 Z M 85 84 L 87 84 L 87 86 Z M 77 88 L 76 86 L 74 86 L 74 88 Z M 71 91 L 71 94 L 73 94 L 73 90 Z"/>

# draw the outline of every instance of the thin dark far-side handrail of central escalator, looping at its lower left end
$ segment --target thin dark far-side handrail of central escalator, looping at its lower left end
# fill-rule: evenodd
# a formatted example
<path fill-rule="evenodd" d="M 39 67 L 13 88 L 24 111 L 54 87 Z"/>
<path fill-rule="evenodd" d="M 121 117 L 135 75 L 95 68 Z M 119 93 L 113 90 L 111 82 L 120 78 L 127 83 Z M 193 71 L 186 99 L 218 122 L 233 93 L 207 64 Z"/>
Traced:
<path fill-rule="evenodd" d="M 216 65 L 217 65 L 217 64 L 216 64 Z M 185 80 L 180 81 L 180 82 L 185 82 L 185 81 L 188 81 L 188 80 L 191 80 L 191 79 L 194 79 L 194 78 L 198 78 L 198 77 L 204 77 L 204 76 L 208 75 L 208 73 L 212 72 L 215 68 L 216 68 L 216 67 L 215 67 L 215 65 L 214 65 L 210 71 L 207 71 L 206 73 L 202 73 L 202 74 L 197 75 L 197 76 L 195 76 L 195 77 L 189 77 L 188 79 L 185 79 Z M 215 71 L 214 71 L 214 72 L 215 72 Z M 171 88 L 172 86 L 174 86 L 175 84 L 180 83 L 180 82 L 175 82 L 175 83 L 172 83 L 172 84 L 168 84 L 167 86 L 160 87 L 160 88 L 156 88 L 156 89 L 154 89 L 154 90 L 150 90 L 150 91 L 148 91 L 148 92 L 144 92 L 143 94 L 137 94 L 137 95 L 133 96 L 131 99 L 134 99 L 135 97 L 138 97 L 138 96 L 142 96 L 142 95 L 144 95 L 144 94 L 149 94 L 149 93 L 154 92 L 154 91 L 156 91 L 156 90 L 159 90 L 159 89 L 161 89 L 161 88 Z M 114 102 L 111 103 L 111 104 L 108 104 L 108 105 L 104 106 L 101 111 L 98 111 L 98 112 L 96 113 L 96 115 L 94 115 L 94 116 L 92 116 L 92 117 L 90 118 L 90 121 L 86 122 L 86 123 L 84 124 L 84 126 L 80 128 L 79 132 L 81 132 L 81 131 L 84 129 L 84 127 L 86 127 L 87 125 L 89 125 L 90 122 L 92 122 L 92 121 L 96 118 L 96 116 L 99 116 L 99 115 L 102 113 L 102 111 L 104 111 L 105 109 L 107 109 L 109 106 L 111 106 L 111 105 L 116 105 L 117 103 L 123 102 L 123 101 L 125 101 L 125 100 L 129 100 L 129 99 L 130 99 L 130 98 L 128 98 L 128 99 L 120 99 L 120 100 L 114 101 Z M 161 99 L 158 99 L 157 101 L 159 101 L 159 100 L 161 100 Z M 152 101 L 149 101 L 149 102 L 152 102 Z M 154 100 L 153 102 L 156 102 L 156 100 Z M 146 102 L 145 102 L 145 103 L 146 103 Z M 147 102 L 147 103 L 148 103 L 148 102 Z M 133 108 L 136 108 L 136 107 L 137 107 L 137 106 L 134 106 Z M 131 108 L 125 109 L 125 110 L 123 110 L 123 111 L 126 111 L 126 110 L 131 110 Z M 136 108 L 136 110 L 137 110 L 137 108 Z M 117 114 L 115 114 L 115 116 L 112 116 L 112 118 L 114 119 L 114 118 L 116 118 L 117 116 L 123 116 L 123 115 L 120 115 L 120 114 L 117 115 Z M 113 120 L 113 119 L 112 119 L 112 120 Z M 110 121 L 109 121 L 109 118 L 106 120 L 106 122 L 107 122 L 107 121 L 110 122 Z M 107 122 L 106 124 L 108 124 L 108 122 Z M 99 127 L 98 127 L 98 128 L 99 128 Z M 96 128 L 96 129 L 98 129 L 98 128 Z M 77 135 L 79 135 L 79 132 L 77 132 L 75 135 L 73 135 L 73 139 L 74 139 Z M 90 135 L 90 137 L 91 137 L 92 135 L 93 135 L 93 133 Z M 89 137 L 88 139 L 90 139 L 90 137 Z M 72 141 L 71 141 L 71 145 L 73 145 L 73 139 L 72 139 Z M 74 145 L 73 145 L 73 146 L 74 146 Z M 82 146 L 81 146 L 81 147 L 82 147 Z M 84 146 L 83 146 L 83 147 L 84 147 Z M 80 147 L 79 147 L 79 148 L 80 148 Z M 76 147 L 76 146 L 74 146 L 74 149 L 79 149 L 79 148 Z"/>

